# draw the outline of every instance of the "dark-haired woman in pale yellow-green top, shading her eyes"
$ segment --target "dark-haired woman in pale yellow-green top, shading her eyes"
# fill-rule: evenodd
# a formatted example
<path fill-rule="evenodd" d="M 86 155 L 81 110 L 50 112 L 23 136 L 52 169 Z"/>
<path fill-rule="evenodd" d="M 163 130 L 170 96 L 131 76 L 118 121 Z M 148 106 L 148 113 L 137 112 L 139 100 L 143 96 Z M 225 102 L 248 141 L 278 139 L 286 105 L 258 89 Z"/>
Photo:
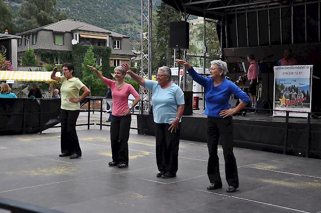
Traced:
<path fill-rule="evenodd" d="M 81 149 L 76 133 L 76 122 L 80 112 L 80 101 L 83 100 L 90 90 L 74 77 L 74 65 L 65 63 L 62 65 L 63 75 L 56 76 L 59 71 L 53 68 L 51 79 L 61 83 L 61 153 L 59 157 L 70 156 L 70 159 L 81 157 Z M 80 89 L 83 94 L 79 98 Z"/>

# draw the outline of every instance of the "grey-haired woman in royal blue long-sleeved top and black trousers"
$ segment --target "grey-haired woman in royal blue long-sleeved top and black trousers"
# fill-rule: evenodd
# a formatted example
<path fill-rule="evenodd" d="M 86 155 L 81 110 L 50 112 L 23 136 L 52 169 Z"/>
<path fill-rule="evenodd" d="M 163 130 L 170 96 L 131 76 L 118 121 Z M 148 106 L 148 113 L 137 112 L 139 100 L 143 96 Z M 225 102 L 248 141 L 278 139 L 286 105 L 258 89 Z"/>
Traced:
<path fill-rule="evenodd" d="M 183 60 L 175 60 L 175 62 L 184 65 L 193 80 L 205 89 L 206 108 L 204 114 L 207 115 L 206 132 L 209 153 L 207 175 L 211 183 L 207 189 L 222 188 L 217 156 L 217 144 L 220 138 L 225 160 L 225 176 L 229 184 L 226 191 L 235 192 L 239 187 L 239 177 L 233 153 L 232 115 L 244 108 L 247 103 L 251 103 L 251 100 L 237 85 L 225 79 L 225 74 L 228 71 L 225 62 L 221 60 L 212 61 L 209 69 L 210 76 L 206 78 L 199 75 L 187 62 Z M 237 107 L 230 109 L 229 99 L 232 93 L 241 99 L 241 102 Z"/>

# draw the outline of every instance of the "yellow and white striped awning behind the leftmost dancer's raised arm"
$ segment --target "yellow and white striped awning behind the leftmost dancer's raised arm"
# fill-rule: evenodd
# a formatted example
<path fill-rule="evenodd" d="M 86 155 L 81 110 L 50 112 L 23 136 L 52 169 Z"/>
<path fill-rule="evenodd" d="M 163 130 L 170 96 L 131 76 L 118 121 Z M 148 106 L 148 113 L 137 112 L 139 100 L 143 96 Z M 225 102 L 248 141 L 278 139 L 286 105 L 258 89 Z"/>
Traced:
<path fill-rule="evenodd" d="M 50 76 L 51 71 L 0 71 L 0 80 L 55 81 Z M 60 76 L 60 72 L 56 72 L 56 76 Z"/>

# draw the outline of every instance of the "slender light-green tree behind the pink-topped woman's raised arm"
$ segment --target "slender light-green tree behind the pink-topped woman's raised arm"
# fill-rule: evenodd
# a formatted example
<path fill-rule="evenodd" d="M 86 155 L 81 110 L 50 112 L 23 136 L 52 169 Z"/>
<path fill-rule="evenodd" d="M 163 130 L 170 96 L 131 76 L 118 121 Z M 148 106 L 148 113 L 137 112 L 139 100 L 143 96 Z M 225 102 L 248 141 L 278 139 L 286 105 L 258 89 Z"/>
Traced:
<path fill-rule="evenodd" d="M 90 70 L 87 65 L 95 67 L 98 71 L 101 71 L 101 67 L 98 67 L 96 64 L 96 59 L 94 58 L 94 47 L 89 46 L 85 56 L 83 57 L 83 63 L 81 64 L 82 68 L 82 82 L 89 88 L 90 96 L 98 95 L 99 90 L 102 86 L 101 80 L 96 76 L 95 72 Z M 99 90 L 97 91 L 97 89 Z"/>

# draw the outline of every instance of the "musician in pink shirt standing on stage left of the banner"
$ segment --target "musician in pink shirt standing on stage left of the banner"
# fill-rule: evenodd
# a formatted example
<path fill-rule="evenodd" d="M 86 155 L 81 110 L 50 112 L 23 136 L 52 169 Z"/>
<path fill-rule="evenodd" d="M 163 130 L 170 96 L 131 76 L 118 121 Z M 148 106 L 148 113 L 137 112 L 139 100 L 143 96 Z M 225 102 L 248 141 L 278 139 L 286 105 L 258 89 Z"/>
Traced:
<path fill-rule="evenodd" d="M 250 54 L 247 56 L 247 61 L 250 63 L 250 66 L 248 67 L 247 71 L 247 79 L 250 81 L 249 86 L 249 93 L 251 102 L 252 102 L 252 108 L 256 107 L 256 84 L 257 84 L 257 69 L 258 64 L 255 61 L 255 57 L 253 54 Z"/>

